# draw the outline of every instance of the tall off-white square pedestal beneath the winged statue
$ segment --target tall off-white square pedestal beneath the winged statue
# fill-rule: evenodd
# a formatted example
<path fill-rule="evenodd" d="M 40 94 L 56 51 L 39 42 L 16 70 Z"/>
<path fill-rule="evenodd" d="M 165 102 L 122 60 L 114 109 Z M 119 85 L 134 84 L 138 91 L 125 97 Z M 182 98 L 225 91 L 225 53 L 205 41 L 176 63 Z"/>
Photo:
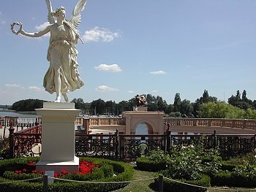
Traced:
<path fill-rule="evenodd" d="M 42 155 L 37 170 L 78 172 L 75 118 L 80 110 L 75 110 L 73 103 L 45 102 L 36 111 L 42 116 Z"/>

